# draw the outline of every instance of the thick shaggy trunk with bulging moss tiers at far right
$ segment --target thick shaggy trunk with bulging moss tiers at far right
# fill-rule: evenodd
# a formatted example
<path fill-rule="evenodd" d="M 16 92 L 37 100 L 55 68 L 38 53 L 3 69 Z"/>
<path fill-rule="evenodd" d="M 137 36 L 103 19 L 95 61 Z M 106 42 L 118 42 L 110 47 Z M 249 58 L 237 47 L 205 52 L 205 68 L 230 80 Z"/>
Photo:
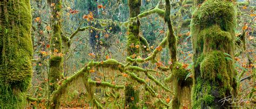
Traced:
<path fill-rule="evenodd" d="M 193 108 L 232 108 L 225 97 L 237 95 L 237 72 L 233 67 L 234 5 L 204 2 L 192 18 Z"/>

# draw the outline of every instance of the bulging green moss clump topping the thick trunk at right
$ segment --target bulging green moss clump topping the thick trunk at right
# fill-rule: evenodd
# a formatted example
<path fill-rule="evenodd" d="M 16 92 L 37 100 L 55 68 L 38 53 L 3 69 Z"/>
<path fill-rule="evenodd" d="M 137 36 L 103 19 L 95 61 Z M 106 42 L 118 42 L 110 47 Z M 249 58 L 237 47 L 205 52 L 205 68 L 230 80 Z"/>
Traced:
<path fill-rule="evenodd" d="M 193 14 L 193 25 L 207 28 L 211 25 L 219 25 L 221 30 L 233 31 L 235 26 L 234 6 L 225 1 L 204 2 Z"/>

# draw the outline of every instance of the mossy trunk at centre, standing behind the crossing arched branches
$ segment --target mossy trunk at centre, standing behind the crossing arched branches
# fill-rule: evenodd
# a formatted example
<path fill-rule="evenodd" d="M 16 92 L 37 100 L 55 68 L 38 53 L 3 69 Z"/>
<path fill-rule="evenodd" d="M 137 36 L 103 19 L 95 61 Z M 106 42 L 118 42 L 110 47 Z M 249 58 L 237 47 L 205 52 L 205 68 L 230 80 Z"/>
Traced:
<path fill-rule="evenodd" d="M 136 17 L 140 13 L 140 5 L 141 0 L 129 0 L 128 5 L 130 8 L 130 18 Z M 139 49 L 136 48 L 136 45 L 140 45 L 139 42 L 139 19 L 130 20 L 127 36 L 127 52 L 128 56 L 132 58 L 136 58 L 139 55 Z M 135 91 L 132 83 L 128 84 L 125 87 L 125 107 L 129 106 L 129 108 L 138 108 L 137 103 L 139 101 L 139 91 Z"/>

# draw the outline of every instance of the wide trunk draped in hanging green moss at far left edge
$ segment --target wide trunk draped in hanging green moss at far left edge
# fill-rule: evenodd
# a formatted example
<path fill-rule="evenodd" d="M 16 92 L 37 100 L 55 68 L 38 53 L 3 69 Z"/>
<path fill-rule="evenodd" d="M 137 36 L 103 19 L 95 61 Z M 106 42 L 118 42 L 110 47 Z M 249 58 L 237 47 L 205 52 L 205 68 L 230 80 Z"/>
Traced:
<path fill-rule="evenodd" d="M 29 0 L 0 1 L 0 108 L 25 108 L 32 73 Z"/>

